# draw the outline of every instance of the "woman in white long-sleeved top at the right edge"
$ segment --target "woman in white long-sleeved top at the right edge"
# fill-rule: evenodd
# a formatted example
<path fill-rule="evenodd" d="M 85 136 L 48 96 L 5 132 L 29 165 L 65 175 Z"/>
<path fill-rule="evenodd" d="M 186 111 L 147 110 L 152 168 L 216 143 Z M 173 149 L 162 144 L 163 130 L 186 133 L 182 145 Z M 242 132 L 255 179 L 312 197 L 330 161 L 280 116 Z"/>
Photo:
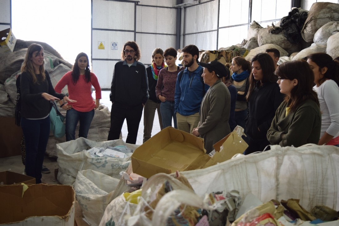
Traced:
<path fill-rule="evenodd" d="M 325 53 L 308 56 L 314 73 L 313 88 L 318 94 L 321 110 L 321 132 L 318 145 L 339 146 L 339 63 Z"/>

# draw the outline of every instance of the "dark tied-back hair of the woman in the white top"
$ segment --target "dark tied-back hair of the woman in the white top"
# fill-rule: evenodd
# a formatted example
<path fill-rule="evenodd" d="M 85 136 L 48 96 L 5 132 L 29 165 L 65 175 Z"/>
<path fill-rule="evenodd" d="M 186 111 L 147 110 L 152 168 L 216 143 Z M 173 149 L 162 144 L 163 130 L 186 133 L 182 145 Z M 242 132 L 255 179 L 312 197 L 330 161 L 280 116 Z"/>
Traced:
<path fill-rule="evenodd" d="M 315 53 L 307 57 L 319 66 L 319 71 L 327 67 L 324 77 L 320 79 L 321 85 L 326 79 L 332 79 L 339 86 L 339 62 L 334 61 L 332 57 L 325 53 Z"/>

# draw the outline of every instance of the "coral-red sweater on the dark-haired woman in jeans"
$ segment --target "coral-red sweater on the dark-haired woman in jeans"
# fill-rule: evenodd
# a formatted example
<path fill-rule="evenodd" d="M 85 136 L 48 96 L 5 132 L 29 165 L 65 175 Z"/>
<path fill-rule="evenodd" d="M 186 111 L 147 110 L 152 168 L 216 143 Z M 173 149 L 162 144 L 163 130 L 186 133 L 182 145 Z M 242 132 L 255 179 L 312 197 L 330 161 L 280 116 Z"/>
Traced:
<path fill-rule="evenodd" d="M 74 85 L 72 81 L 72 71 L 68 71 L 54 89 L 57 93 L 61 93 L 65 85 L 67 85 L 68 88 L 69 99 L 77 101 L 68 104 L 72 105 L 77 111 L 88 112 L 95 108 L 95 101 L 92 98 L 92 85 L 95 88 L 95 99 L 101 99 L 101 88 L 98 78 L 92 72 L 91 82 L 86 83 L 85 75 L 80 75 L 79 80 Z"/>

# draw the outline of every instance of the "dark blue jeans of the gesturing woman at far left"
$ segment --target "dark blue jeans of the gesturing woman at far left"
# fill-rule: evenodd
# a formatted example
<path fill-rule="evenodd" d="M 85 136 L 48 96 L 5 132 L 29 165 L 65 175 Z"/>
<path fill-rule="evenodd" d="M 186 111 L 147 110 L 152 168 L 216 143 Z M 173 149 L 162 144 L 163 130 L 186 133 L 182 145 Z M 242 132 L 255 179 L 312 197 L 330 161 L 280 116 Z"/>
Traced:
<path fill-rule="evenodd" d="M 21 119 L 21 128 L 26 142 L 26 174 L 41 183 L 41 168 L 46 151 L 51 122 L 45 119 Z"/>

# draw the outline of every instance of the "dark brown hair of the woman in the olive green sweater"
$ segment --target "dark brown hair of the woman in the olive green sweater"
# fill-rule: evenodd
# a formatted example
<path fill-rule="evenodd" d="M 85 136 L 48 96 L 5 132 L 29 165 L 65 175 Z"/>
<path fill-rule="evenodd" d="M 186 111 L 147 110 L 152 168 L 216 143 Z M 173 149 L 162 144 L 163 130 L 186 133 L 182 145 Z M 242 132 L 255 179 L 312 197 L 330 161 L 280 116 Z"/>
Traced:
<path fill-rule="evenodd" d="M 279 65 L 275 74 L 281 79 L 297 79 L 298 84 L 291 90 L 291 97 L 286 96 L 284 101 L 290 102 L 291 112 L 305 100 L 313 100 L 320 106 L 317 93 L 313 90 L 314 75 L 310 65 L 305 60 L 294 60 Z"/>

